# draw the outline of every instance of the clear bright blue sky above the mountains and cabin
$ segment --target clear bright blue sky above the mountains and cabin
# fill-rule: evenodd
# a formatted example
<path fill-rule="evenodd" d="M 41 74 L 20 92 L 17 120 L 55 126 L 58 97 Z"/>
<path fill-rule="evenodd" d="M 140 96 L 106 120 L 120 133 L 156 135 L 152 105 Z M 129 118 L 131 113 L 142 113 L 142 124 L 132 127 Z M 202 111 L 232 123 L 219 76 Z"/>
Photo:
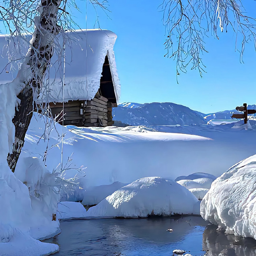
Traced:
<path fill-rule="evenodd" d="M 256 17 L 256 3 L 250 13 Z M 88 1 L 89 3 L 89 1 Z M 157 10 L 161 1 L 109 0 L 111 19 L 99 11 L 101 29 L 116 33 L 114 47 L 121 80 L 121 102 L 174 102 L 204 113 L 234 109 L 244 102 L 256 104 L 256 53 L 248 44 L 244 64 L 235 52 L 235 35 L 229 30 L 220 40 L 205 38 L 203 62 L 207 73 L 203 78 L 195 70 L 181 74 L 176 82 L 173 59 L 164 57 L 165 27 L 162 13 Z M 74 13 L 79 26 L 85 28 L 85 1 L 79 2 L 82 14 Z M 95 12 L 88 6 L 87 27 L 93 28 Z"/>

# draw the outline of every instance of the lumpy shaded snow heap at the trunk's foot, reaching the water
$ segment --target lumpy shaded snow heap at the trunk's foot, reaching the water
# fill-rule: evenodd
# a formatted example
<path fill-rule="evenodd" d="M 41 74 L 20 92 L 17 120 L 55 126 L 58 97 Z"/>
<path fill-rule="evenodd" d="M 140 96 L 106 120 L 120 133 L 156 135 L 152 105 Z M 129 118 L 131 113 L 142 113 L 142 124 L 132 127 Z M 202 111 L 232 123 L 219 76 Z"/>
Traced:
<path fill-rule="evenodd" d="M 36 157 L 21 158 L 14 175 L 29 188 L 33 215 L 37 223 L 30 224 L 30 234 L 36 239 L 46 239 L 60 233 L 59 221 L 52 221 L 59 202 L 58 173 L 50 173 Z"/>

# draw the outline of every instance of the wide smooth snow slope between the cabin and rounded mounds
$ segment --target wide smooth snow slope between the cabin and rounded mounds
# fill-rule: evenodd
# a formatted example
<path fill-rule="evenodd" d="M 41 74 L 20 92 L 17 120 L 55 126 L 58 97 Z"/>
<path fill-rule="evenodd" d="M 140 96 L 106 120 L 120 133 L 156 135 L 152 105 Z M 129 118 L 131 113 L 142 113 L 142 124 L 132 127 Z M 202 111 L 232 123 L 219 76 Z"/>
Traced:
<path fill-rule="evenodd" d="M 21 158 L 43 155 L 48 144 L 46 165 L 54 170 L 61 159 L 62 127 L 56 124 L 50 136 L 44 135 L 47 119 L 33 116 L 25 137 Z M 84 176 L 80 187 L 131 183 L 139 178 L 209 173 L 219 176 L 230 166 L 256 154 L 256 131 L 227 125 L 183 127 L 64 127 L 63 166 L 72 155 L 62 177 Z M 234 126 L 234 125 L 233 125 Z M 73 154 L 72 154 L 73 153 Z M 83 173 L 80 167 L 86 167 Z M 20 163 L 17 169 L 20 168 Z M 60 168 L 60 166 L 58 167 Z M 73 168 L 73 169 L 72 169 Z M 100 178 L 99 178 L 100 177 Z"/>

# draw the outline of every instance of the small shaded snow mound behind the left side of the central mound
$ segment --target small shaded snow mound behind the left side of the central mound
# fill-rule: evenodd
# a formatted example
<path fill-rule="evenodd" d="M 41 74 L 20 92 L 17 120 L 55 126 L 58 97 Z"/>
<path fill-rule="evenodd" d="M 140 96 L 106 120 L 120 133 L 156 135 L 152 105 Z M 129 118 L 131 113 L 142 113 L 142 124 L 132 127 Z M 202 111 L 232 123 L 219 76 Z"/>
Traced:
<path fill-rule="evenodd" d="M 83 205 L 98 204 L 101 200 L 103 200 L 107 196 L 110 196 L 116 190 L 126 185 L 128 184 L 115 181 L 111 185 L 101 185 L 101 186 L 89 188 L 84 193 L 82 204 Z"/>

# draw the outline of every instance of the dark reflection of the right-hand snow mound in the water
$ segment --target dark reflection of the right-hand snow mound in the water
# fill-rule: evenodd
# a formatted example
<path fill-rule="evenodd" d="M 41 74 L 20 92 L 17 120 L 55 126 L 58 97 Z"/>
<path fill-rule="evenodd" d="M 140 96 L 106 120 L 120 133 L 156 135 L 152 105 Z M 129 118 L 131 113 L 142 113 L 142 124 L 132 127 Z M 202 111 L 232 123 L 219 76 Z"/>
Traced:
<path fill-rule="evenodd" d="M 203 250 L 207 256 L 256 256 L 256 241 L 216 232 L 216 226 L 209 225 L 203 233 Z"/>

